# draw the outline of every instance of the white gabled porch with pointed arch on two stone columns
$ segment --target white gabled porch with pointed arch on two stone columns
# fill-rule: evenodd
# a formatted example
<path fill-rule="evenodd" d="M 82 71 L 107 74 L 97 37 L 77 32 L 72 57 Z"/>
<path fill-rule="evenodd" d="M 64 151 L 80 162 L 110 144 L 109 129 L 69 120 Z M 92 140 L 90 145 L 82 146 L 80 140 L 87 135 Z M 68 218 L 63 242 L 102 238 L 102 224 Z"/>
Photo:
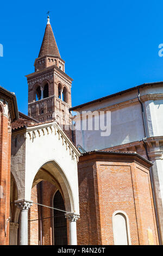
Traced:
<path fill-rule="evenodd" d="M 32 191 L 35 190 L 35 194 L 37 194 L 37 184 L 45 185 L 48 182 L 50 184 L 48 188 L 52 186 L 55 191 L 59 190 L 64 199 L 65 217 L 70 230 L 68 237 L 70 244 L 76 245 L 76 221 L 79 217 L 77 172 L 79 151 L 61 130 L 57 121 L 51 121 L 48 124 L 36 124 L 24 130 L 16 131 L 12 136 L 13 143 L 15 136 L 20 143 L 17 144 L 16 150 L 13 147 L 11 166 L 18 188 L 18 198 L 15 204 L 21 211 L 20 244 L 28 244 L 28 210 L 30 209 L 30 212 L 36 211 L 34 205 L 38 205 L 37 198 L 33 197 Z M 20 152 L 22 152 L 21 164 Z M 54 193 L 49 192 L 49 195 L 45 193 L 47 198 L 45 197 L 43 206 L 37 206 L 37 211 L 40 207 L 44 209 L 44 212 L 45 209 L 53 209 L 51 198 L 53 195 Z M 48 214 L 49 217 L 53 215 L 51 212 Z M 38 218 L 40 217 L 37 216 L 35 219 Z M 31 220 L 30 223 L 32 223 Z M 49 229 L 52 230 L 52 226 Z M 45 236 L 42 237 L 42 242 L 43 239 Z"/>

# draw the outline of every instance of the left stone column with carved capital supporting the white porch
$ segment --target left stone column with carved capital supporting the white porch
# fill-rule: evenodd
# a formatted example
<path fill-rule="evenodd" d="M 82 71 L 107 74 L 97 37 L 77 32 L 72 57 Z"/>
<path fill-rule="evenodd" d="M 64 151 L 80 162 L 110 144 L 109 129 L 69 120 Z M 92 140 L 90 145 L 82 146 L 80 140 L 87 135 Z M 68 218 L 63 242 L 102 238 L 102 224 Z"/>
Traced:
<path fill-rule="evenodd" d="M 28 210 L 32 203 L 32 201 L 25 199 L 15 201 L 15 205 L 21 210 L 20 245 L 28 245 Z"/>

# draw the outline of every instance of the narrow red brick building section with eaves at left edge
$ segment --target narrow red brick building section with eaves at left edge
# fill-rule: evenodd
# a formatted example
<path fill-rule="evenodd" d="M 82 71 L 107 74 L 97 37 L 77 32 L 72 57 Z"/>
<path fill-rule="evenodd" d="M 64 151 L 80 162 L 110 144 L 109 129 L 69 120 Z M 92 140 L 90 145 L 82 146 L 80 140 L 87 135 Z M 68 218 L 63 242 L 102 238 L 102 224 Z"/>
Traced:
<path fill-rule="evenodd" d="M 0 245 L 9 245 L 11 123 L 16 119 L 16 96 L 0 86 Z"/>

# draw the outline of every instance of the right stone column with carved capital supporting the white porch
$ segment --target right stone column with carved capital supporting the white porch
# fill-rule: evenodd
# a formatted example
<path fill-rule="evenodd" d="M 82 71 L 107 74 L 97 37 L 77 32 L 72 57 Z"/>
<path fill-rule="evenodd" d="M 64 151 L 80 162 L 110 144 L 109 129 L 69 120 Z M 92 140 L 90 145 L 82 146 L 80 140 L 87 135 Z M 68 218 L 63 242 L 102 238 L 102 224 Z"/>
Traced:
<path fill-rule="evenodd" d="M 70 214 L 65 214 L 65 217 L 69 221 L 69 231 L 70 231 L 70 245 L 77 245 L 77 223 L 76 221 L 80 216 L 78 214 L 74 214 L 74 212 Z"/>

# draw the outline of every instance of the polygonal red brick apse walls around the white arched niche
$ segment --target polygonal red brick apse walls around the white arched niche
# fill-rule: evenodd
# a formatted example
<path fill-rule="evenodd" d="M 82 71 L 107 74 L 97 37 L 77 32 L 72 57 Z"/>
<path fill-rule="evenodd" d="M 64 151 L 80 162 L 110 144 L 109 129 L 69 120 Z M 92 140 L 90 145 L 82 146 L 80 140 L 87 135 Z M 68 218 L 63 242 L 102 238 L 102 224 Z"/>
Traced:
<path fill-rule="evenodd" d="M 83 156 L 78 178 L 79 245 L 114 245 L 112 214 L 117 210 L 129 217 L 131 245 L 148 245 L 149 228 L 158 245 L 149 167 L 145 163 L 124 156 Z"/>

